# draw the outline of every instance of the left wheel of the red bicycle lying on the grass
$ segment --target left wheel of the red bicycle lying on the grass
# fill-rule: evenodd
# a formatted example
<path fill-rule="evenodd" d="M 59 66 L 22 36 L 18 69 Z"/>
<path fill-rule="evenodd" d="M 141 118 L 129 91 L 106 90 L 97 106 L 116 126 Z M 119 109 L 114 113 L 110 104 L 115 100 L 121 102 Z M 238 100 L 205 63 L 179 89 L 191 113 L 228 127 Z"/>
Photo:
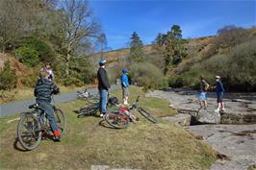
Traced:
<path fill-rule="evenodd" d="M 124 113 L 108 112 L 104 115 L 106 122 L 116 129 L 124 129 L 129 125 L 129 117 Z"/>

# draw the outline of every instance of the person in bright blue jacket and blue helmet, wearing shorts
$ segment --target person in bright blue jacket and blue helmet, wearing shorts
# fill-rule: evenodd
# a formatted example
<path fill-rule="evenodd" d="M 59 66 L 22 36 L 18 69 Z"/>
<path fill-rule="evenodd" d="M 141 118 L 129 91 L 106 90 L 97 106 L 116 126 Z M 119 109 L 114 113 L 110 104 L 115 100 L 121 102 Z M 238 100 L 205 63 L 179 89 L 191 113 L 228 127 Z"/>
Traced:
<path fill-rule="evenodd" d="M 128 69 L 123 68 L 122 69 L 122 75 L 120 77 L 121 80 L 121 86 L 122 86 L 122 100 L 123 100 L 123 105 L 128 105 L 128 97 L 129 97 L 129 81 L 128 81 Z"/>

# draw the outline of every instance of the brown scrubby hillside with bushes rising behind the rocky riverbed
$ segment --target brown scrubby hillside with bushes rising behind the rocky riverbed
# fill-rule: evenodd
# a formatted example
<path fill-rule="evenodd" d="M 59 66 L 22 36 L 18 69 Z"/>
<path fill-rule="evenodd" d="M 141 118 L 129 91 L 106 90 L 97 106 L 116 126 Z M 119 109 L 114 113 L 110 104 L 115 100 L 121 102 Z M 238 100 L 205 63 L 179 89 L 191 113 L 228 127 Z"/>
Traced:
<path fill-rule="evenodd" d="M 222 31 L 222 35 L 186 39 L 183 44 L 186 56 L 182 58 L 180 63 L 169 65 L 169 70 L 165 76 L 167 83 L 163 83 L 164 86 L 160 85 L 160 87 L 165 87 L 167 84 L 172 87 L 190 86 L 198 88 L 198 77 L 202 75 L 213 89 L 215 76 L 220 75 L 227 91 L 256 90 L 256 77 L 253 73 L 256 71 L 254 69 L 256 67 L 256 28 L 246 30 L 236 27 L 230 28 L 223 28 L 223 30 L 227 30 Z M 146 61 L 150 64 L 129 65 L 130 63 L 125 61 L 130 53 L 127 48 L 106 52 L 102 55 L 95 54 L 90 60 L 97 63 L 96 61 L 102 56 L 109 61 L 108 68 L 112 74 L 112 80 L 118 78 L 117 76 L 124 66 L 130 68 L 132 74 L 138 72 L 138 69 L 143 69 L 137 73 L 141 76 L 147 72 L 147 76 L 141 80 L 141 84 L 143 82 L 151 84 L 157 77 L 164 77 L 161 74 L 152 77 L 152 74 L 159 72 L 159 69 L 163 71 L 165 58 L 157 54 L 152 45 L 144 46 L 143 51 Z M 141 66 L 147 68 L 141 68 Z"/>

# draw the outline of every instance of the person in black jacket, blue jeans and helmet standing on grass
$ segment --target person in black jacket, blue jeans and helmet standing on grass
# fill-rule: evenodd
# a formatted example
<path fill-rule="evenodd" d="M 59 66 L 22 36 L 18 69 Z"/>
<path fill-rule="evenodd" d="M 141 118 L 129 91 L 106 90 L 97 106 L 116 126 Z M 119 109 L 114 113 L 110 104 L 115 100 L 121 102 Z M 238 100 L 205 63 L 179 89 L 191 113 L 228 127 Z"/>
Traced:
<path fill-rule="evenodd" d="M 97 78 L 98 78 L 98 90 L 99 90 L 99 111 L 100 116 L 103 117 L 104 114 L 107 112 L 107 101 L 108 101 L 108 91 L 111 87 L 107 75 L 107 71 L 105 70 L 107 61 L 104 59 L 101 59 L 99 61 L 99 69 L 97 72 Z"/>

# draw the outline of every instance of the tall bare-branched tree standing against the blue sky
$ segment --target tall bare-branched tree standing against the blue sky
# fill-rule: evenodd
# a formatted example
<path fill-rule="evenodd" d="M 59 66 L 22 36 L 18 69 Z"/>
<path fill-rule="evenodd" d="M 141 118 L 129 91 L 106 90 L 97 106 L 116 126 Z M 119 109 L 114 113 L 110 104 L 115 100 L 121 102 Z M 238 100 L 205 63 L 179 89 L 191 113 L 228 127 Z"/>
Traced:
<path fill-rule="evenodd" d="M 69 76 L 71 58 L 79 48 L 91 47 L 91 43 L 101 35 L 100 25 L 92 18 L 86 0 L 61 1 L 61 10 L 63 12 L 62 30 L 65 35 L 65 74 Z"/>

